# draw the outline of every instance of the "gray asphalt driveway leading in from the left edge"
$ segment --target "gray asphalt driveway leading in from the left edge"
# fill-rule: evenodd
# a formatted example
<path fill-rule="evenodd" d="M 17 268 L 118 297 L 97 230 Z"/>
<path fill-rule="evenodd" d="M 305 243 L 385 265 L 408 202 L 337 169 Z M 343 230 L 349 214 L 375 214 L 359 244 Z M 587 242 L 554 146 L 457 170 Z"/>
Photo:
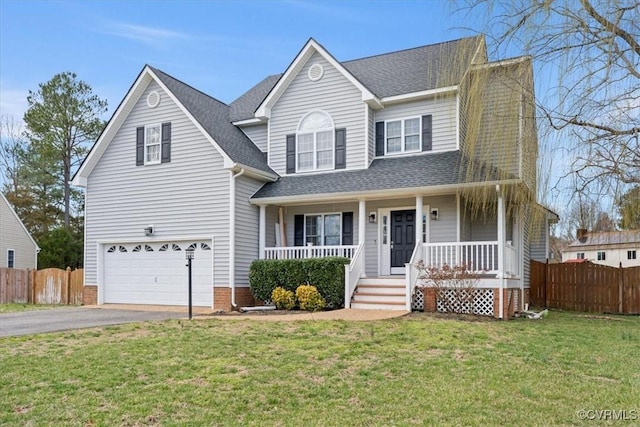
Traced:
<path fill-rule="evenodd" d="M 149 320 L 186 319 L 183 312 L 168 310 L 123 310 L 114 308 L 55 308 L 0 314 L 0 337 L 32 335 L 71 329 Z"/>

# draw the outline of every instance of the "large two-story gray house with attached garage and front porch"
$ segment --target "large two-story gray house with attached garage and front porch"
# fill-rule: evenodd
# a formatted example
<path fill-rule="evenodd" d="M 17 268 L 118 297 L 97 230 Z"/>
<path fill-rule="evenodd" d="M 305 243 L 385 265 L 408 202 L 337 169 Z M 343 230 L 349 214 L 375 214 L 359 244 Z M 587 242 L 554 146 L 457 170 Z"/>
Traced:
<path fill-rule="evenodd" d="M 409 308 L 424 259 L 482 270 L 501 317 L 548 254 L 537 150 L 531 60 L 483 37 L 345 62 L 310 39 L 230 105 L 145 66 L 73 179 L 86 301 L 186 304 L 192 248 L 195 305 L 253 304 L 255 259 L 341 255 L 347 306 Z"/>

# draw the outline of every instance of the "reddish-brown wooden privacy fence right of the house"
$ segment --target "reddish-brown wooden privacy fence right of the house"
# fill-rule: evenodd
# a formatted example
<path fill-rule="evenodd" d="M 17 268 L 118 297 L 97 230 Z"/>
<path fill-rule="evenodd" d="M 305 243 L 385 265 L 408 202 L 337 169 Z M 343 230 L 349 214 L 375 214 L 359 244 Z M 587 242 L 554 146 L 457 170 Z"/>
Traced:
<path fill-rule="evenodd" d="M 569 311 L 640 314 L 640 267 L 531 261 L 529 299 Z"/>

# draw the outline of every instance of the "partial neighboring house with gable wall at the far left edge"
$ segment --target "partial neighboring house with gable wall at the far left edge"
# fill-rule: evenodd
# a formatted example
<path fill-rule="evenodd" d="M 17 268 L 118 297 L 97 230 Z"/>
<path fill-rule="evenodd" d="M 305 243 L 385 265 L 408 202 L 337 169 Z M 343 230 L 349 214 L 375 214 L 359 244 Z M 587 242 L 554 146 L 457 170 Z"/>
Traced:
<path fill-rule="evenodd" d="M 40 248 L 0 193 L 0 268 L 35 269 Z"/>

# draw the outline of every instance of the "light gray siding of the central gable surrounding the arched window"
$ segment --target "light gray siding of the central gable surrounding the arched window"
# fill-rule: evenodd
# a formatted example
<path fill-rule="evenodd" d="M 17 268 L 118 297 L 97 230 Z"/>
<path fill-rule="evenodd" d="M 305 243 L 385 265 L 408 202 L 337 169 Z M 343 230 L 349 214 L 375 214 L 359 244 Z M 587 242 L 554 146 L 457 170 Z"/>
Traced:
<path fill-rule="evenodd" d="M 311 65 L 324 67 L 323 77 L 309 80 Z M 361 92 L 321 55 L 313 55 L 271 109 L 269 166 L 286 174 L 286 136 L 294 134 L 300 119 L 310 111 L 328 113 L 336 129 L 347 130 L 347 169 L 363 169 L 367 132 Z"/>

